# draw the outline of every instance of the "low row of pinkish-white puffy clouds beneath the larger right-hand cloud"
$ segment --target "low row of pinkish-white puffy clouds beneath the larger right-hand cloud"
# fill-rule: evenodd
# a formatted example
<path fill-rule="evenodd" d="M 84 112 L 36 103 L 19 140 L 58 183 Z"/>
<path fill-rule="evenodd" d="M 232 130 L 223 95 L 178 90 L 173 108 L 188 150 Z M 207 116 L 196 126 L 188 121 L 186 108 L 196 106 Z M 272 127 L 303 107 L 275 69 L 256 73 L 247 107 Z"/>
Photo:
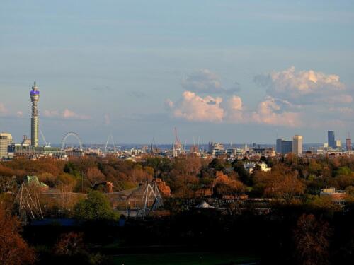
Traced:
<path fill-rule="evenodd" d="M 301 125 L 300 114 L 287 111 L 283 100 L 266 97 L 256 110 L 245 110 L 239 96 L 222 98 L 206 96 L 202 98 L 191 91 L 185 91 L 178 102 L 166 100 L 173 117 L 193 122 L 227 122 L 238 124 L 267 124 L 276 126 Z"/>

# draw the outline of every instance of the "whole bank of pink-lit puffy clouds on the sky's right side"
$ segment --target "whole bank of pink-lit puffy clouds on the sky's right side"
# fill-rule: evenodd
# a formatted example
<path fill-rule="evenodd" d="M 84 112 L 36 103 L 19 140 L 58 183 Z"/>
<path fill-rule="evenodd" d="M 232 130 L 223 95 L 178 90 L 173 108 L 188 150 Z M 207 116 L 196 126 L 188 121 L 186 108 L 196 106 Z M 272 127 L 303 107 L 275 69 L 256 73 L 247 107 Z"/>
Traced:
<path fill-rule="evenodd" d="M 244 106 L 239 95 L 224 98 L 198 93 L 224 93 L 219 78 L 207 69 L 188 76 L 180 100 L 166 100 L 172 117 L 190 122 L 265 124 L 270 126 L 315 126 L 343 124 L 354 113 L 353 97 L 339 76 L 319 71 L 283 71 L 258 75 L 254 81 L 265 88 L 265 98 L 256 107 Z M 189 89 L 189 90 L 188 90 Z"/>

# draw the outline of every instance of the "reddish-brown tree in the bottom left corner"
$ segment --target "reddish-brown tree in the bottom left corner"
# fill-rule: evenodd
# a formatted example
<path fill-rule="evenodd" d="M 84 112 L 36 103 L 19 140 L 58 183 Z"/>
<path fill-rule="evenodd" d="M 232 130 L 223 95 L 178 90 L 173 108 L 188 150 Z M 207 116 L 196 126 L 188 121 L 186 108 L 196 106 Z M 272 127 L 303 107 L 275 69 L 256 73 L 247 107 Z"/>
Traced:
<path fill-rule="evenodd" d="M 33 264 L 35 252 L 28 247 L 19 231 L 18 219 L 11 216 L 4 206 L 0 205 L 0 264 L 18 265 Z"/>

